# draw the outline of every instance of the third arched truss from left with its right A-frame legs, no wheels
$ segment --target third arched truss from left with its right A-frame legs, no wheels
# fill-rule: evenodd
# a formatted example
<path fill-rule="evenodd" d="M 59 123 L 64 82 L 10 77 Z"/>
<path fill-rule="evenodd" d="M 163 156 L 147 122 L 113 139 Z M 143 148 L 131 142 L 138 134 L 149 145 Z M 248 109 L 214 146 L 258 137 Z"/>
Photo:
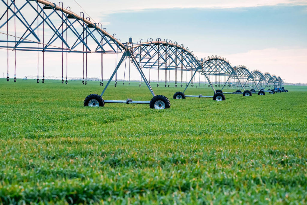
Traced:
<path fill-rule="evenodd" d="M 229 76 L 226 82 L 224 83 L 223 88 L 227 84 L 228 80 L 231 78 L 235 78 L 239 81 L 242 89 L 245 91 L 239 76 L 235 72 L 235 70 L 232 68 L 231 64 L 229 64 L 229 61 L 227 59 L 221 57 L 221 56 L 208 56 L 208 58 L 204 58 L 201 60 L 202 66 L 204 67 L 204 71 L 206 72 L 206 75 L 208 76 Z M 204 71 L 200 71 L 200 74 L 205 74 Z"/>

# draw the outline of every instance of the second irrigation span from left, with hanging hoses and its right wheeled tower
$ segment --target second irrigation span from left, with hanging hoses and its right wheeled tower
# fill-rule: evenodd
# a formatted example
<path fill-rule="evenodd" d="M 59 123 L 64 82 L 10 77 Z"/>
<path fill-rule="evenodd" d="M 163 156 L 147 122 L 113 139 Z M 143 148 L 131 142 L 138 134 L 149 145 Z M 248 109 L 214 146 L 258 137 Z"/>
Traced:
<path fill-rule="evenodd" d="M 215 91 L 212 83 L 204 71 L 204 68 L 197 60 L 197 57 L 194 57 L 193 52 L 189 51 L 188 48 L 184 48 L 182 44 L 178 45 L 177 42 L 172 43 L 172 41 L 168 41 L 167 39 L 164 39 L 164 41 L 161 41 L 161 39 L 156 39 L 156 41 L 148 39 L 148 42 L 141 41 L 138 42 L 138 44 L 133 45 L 133 51 L 136 59 L 138 59 L 140 67 L 149 69 L 149 74 L 151 70 L 157 70 L 159 79 L 159 73 L 162 71 L 165 76 L 165 82 L 162 83 L 162 86 L 169 87 L 170 74 L 171 72 L 174 72 L 175 87 L 177 87 L 177 75 L 181 75 L 180 87 L 185 87 L 185 89 L 183 92 L 176 92 L 173 95 L 174 99 L 185 99 L 186 97 L 212 98 L 216 101 L 225 99 L 224 95 Z M 195 75 L 198 74 L 199 71 L 204 72 L 205 78 L 208 81 L 208 86 L 211 87 L 214 91 L 213 96 L 184 94 L 189 85 L 194 87 L 195 82 L 192 83 L 192 80 L 195 78 Z M 185 85 L 183 84 L 183 72 L 186 74 L 187 78 Z M 191 73 L 191 79 L 188 80 L 189 73 Z M 159 80 L 157 82 L 157 87 L 159 87 Z"/>

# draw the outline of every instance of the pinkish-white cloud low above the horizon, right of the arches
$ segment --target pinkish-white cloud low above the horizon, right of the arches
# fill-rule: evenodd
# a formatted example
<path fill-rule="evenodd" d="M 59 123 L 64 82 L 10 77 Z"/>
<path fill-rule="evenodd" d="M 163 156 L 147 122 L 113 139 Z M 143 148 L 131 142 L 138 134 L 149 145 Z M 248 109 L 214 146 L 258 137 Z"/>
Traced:
<path fill-rule="evenodd" d="M 207 57 L 212 53 L 194 52 L 198 57 Z M 270 72 L 272 75 L 281 76 L 285 82 L 307 83 L 307 48 L 302 49 L 277 49 L 251 50 L 236 54 L 214 54 L 229 60 L 232 66 L 245 65 L 252 70 Z"/>

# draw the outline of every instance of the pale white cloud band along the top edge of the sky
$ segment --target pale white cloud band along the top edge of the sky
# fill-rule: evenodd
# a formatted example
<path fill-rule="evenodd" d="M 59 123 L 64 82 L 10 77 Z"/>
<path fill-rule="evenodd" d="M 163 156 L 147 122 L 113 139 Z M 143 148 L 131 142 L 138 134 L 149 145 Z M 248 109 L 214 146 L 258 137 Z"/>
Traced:
<path fill-rule="evenodd" d="M 144 1 L 144 0 L 133 0 L 133 1 L 91 1 L 87 4 L 84 1 L 77 1 L 82 8 L 87 11 L 89 15 L 93 15 L 94 20 L 98 16 L 104 16 L 112 13 L 119 12 L 134 12 L 145 9 L 169 9 L 169 8 L 246 8 L 255 6 L 275 6 L 280 4 L 286 5 L 302 5 L 306 6 L 306 0 L 156 0 Z M 65 4 L 70 4 L 72 11 L 77 12 L 80 7 L 74 0 L 65 1 Z M 93 7 L 95 5 L 95 7 Z M 98 21 L 97 19 L 96 21 Z"/>

